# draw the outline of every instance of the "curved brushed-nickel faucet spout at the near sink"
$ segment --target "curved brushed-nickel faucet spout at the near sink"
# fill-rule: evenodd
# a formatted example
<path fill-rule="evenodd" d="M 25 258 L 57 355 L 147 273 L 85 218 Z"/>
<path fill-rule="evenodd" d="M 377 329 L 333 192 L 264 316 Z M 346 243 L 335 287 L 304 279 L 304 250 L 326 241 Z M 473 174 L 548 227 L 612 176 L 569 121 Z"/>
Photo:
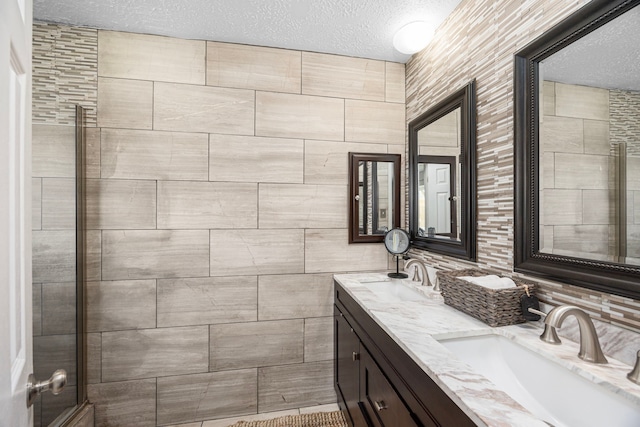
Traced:
<path fill-rule="evenodd" d="M 593 322 L 587 313 L 574 305 L 561 305 L 553 308 L 544 319 L 544 331 L 540 339 L 549 344 L 560 344 L 560 338 L 556 333 L 556 328 L 562 326 L 564 320 L 574 315 L 578 321 L 580 329 L 580 351 L 578 357 L 592 363 L 607 363 L 607 358 L 602 353 L 598 334 Z"/>

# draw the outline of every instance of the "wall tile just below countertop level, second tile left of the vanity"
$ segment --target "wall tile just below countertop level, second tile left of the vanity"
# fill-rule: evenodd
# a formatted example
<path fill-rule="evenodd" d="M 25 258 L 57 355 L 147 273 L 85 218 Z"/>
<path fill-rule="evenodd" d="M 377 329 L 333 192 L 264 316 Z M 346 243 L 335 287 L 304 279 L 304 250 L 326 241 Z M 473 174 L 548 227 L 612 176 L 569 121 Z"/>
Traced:
<path fill-rule="evenodd" d="M 258 316 L 256 276 L 158 280 L 158 327 L 251 322 Z"/>

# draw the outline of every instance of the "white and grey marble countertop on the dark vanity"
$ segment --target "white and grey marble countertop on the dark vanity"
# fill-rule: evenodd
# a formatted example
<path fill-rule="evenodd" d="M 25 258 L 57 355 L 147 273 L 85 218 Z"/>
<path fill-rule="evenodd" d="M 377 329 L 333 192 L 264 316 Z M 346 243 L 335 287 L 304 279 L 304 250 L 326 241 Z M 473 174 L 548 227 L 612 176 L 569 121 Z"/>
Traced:
<path fill-rule="evenodd" d="M 548 427 L 548 424 L 456 358 L 438 340 L 502 335 L 640 406 L 640 386 L 626 378 L 631 370 L 629 365 L 608 355 L 606 365 L 585 362 L 577 356 L 578 343 L 566 339 L 562 345 L 542 343 L 539 340 L 541 322 L 492 328 L 445 305 L 440 293 L 429 286 L 420 286 L 419 282 L 390 279 L 386 273 L 336 274 L 334 278 L 479 426 Z M 367 283 L 381 281 L 403 282 L 426 298 L 402 302 L 384 300 L 367 287 Z"/>

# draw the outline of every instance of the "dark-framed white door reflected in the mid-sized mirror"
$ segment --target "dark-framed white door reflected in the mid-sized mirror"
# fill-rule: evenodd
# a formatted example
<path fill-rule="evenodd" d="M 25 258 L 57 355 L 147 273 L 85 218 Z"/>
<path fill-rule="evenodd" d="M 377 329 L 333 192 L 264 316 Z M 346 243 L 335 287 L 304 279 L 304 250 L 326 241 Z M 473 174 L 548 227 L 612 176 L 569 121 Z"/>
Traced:
<path fill-rule="evenodd" d="M 456 157 L 419 156 L 418 180 L 418 233 L 456 238 Z"/>

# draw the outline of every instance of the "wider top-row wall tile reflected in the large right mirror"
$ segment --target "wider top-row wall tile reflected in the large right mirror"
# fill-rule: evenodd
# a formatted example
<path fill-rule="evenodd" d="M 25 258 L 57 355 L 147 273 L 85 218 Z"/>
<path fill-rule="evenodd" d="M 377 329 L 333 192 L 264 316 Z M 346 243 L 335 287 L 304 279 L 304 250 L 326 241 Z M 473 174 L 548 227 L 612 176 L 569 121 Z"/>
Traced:
<path fill-rule="evenodd" d="M 556 83 L 556 115 L 609 120 L 609 91 Z"/>

